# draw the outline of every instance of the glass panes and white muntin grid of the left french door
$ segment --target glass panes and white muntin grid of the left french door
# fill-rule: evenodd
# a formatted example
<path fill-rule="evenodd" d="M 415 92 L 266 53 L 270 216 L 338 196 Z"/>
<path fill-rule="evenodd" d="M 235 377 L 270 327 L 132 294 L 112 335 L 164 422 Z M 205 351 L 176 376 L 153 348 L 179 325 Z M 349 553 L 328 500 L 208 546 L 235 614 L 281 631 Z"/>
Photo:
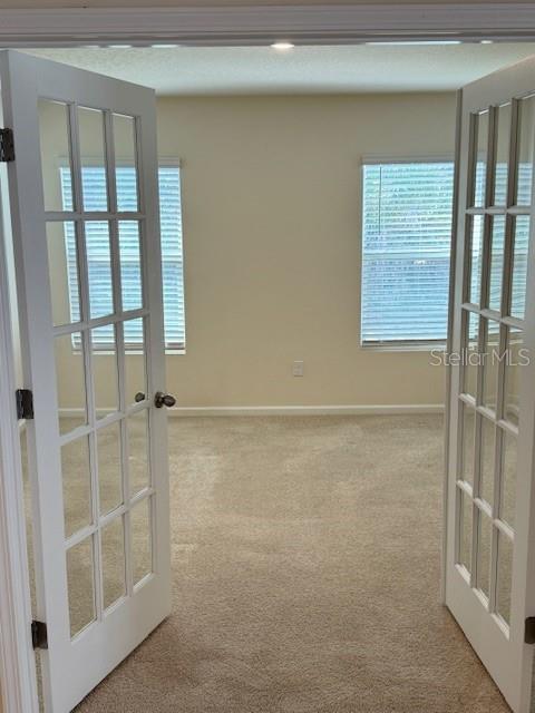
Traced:
<path fill-rule="evenodd" d="M 65 274 L 59 281 L 64 293 L 62 319 L 54 320 L 52 332 L 55 343 L 62 345 L 64 356 L 70 351 L 76 359 L 81 382 L 75 403 L 66 402 L 62 392 L 58 393 L 70 636 L 76 641 L 125 597 L 133 596 L 154 572 L 155 489 L 150 477 L 149 438 L 149 394 L 153 390 L 149 351 L 146 349 L 150 316 L 146 290 L 147 236 L 143 182 L 139 179 L 140 119 L 74 102 L 43 99 L 42 106 L 43 111 L 52 111 L 56 117 L 65 116 L 61 126 L 67 136 L 62 146 L 68 147 L 72 192 L 71 201 L 64 202 L 61 206 L 57 196 L 45 196 L 46 207 L 51 207 L 46 211 L 46 219 L 47 226 L 51 226 L 49 232 L 54 235 L 56 251 L 49 251 L 50 289 L 55 290 L 58 282 L 52 280 L 57 277 L 54 275 L 54 258 L 58 257 L 61 247 L 58 229 L 64 231 L 68 222 L 76 245 L 76 264 L 70 265 L 70 279 L 76 276 L 79 295 L 77 309 L 67 319 L 65 299 L 68 290 L 65 285 L 69 280 L 69 265 L 64 251 Z M 105 196 L 98 195 L 93 203 L 84 186 L 82 173 L 86 154 L 91 153 L 94 145 L 91 126 L 98 128 L 96 153 L 106 175 Z M 130 133 L 129 141 L 117 135 L 125 126 Z M 59 184 L 59 177 L 50 173 L 50 166 L 57 170 L 57 162 L 50 163 L 47 156 L 50 141 L 46 140 L 41 130 L 43 185 L 48 186 L 51 180 Z M 135 166 L 135 205 L 132 202 L 117 205 L 117 144 L 123 146 L 128 164 Z M 65 160 L 64 155 L 64 164 Z M 130 235 L 134 253 L 132 247 L 125 250 L 124 234 L 127 238 Z M 89 244 L 90 241 L 96 244 Z M 100 290 L 95 292 L 95 296 L 91 289 L 96 285 Z M 129 299 L 129 291 L 135 292 L 134 300 Z M 54 306 L 54 293 L 51 299 Z M 125 340 L 125 324 L 135 325 L 142 334 L 135 355 L 130 354 L 132 344 Z M 106 342 L 107 331 L 113 334 L 111 342 L 106 350 L 99 350 L 98 342 Z M 127 333 L 132 331 L 126 329 Z M 136 361 L 133 370 L 129 369 L 132 360 Z M 113 384 L 110 391 L 115 389 L 114 395 L 106 394 L 106 389 L 99 383 L 106 379 L 105 362 L 109 383 Z M 133 381 L 137 384 L 136 393 L 126 391 L 132 381 L 129 371 L 136 377 Z M 64 379 L 68 381 L 68 375 L 65 359 L 58 358 L 58 384 Z M 68 384 L 65 391 L 69 391 Z M 109 403 L 106 403 L 106 398 Z M 80 413 L 84 414 L 81 418 Z M 143 422 L 145 430 L 134 438 L 133 428 L 137 428 L 138 422 Z M 143 450 L 144 456 L 140 455 Z M 139 460 L 145 463 L 144 479 L 139 478 Z M 80 468 L 80 462 L 84 468 Z"/>

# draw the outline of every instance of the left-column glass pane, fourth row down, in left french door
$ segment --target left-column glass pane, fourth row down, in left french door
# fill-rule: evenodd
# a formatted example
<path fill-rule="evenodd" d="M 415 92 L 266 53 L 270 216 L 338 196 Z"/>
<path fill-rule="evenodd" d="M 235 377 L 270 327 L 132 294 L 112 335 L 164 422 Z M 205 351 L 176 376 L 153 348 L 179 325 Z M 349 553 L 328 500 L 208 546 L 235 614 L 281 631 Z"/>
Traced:
<path fill-rule="evenodd" d="M 61 447 L 65 536 L 70 537 L 93 522 L 89 440 L 77 438 Z"/>

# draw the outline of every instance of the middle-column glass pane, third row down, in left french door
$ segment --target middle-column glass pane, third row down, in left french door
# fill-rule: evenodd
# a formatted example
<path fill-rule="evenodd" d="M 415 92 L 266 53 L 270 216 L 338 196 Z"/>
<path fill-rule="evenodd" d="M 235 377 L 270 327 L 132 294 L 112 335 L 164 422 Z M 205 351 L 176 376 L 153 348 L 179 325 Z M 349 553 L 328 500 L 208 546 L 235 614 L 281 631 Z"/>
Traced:
<path fill-rule="evenodd" d="M 91 330 L 91 346 L 95 412 L 100 419 L 119 408 L 115 326 L 106 324 Z"/>

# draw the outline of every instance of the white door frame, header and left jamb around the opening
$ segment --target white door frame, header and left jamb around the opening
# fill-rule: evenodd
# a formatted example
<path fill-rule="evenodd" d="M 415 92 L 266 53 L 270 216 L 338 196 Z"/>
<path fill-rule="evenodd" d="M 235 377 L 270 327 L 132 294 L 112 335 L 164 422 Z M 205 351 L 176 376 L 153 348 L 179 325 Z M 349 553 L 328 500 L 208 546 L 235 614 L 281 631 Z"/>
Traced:
<path fill-rule="evenodd" d="M 107 42 L 244 46 L 266 45 L 276 39 L 307 45 L 432 39 L 533 41 L 535 4 L 448 2 L 440 6 L 227 8 L 154 8 L 147 4 L 135 9 L 0 9 L 1 47 L 81 47 Z M 9 713 L 33 713 L 37 711 L 37 686 L 29 628 L 31 607 L 20 443 L 14 413 L 12 320 L 3 240 L 0 224 L 0 399 L 8 404 L 0 411 L 0 703 Z M 450 280 L 454 277 L 451 273 Z M 449 379 L 449 369 L 446 379 Z M 448 408 L 446 402 L 446 424 L 449 422 Z M 445 539 L 442 531 L 442 541 Z"/>

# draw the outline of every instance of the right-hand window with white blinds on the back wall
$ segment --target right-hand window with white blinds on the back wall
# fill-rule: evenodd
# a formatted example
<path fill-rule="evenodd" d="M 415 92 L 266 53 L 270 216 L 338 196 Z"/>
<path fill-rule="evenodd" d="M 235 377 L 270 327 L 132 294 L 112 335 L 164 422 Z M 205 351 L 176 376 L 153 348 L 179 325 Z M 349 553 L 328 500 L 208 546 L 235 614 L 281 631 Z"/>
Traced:
<path fill-rule="evenodd" d="M 361 342 L 445 341 L 454 165 L 363 166 Z"/>

